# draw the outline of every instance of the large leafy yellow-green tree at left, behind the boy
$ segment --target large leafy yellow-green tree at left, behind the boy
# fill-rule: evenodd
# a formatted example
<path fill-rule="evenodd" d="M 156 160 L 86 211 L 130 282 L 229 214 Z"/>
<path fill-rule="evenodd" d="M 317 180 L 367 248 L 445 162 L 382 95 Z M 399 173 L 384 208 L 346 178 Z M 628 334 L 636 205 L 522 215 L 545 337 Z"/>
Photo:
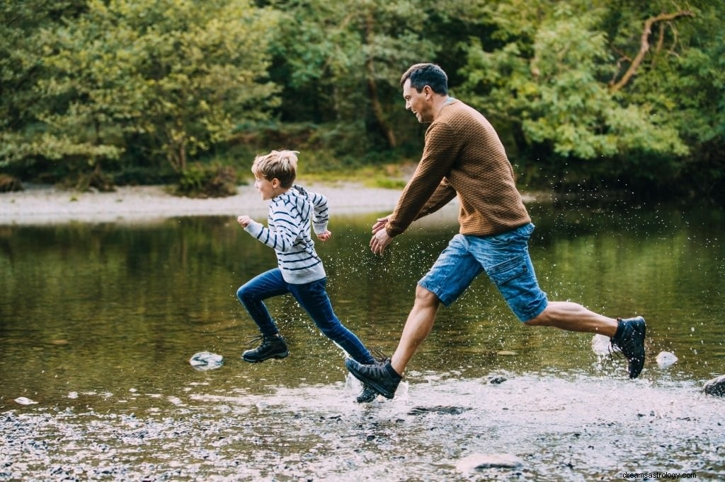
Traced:
<path fill-rule="evenodd" d="M 247 0 L 89 0 L 45 28 L 46 109 L 35 142 L 89 164 L 131 143 L 178 172 L 240 122 L 266 119 L 276 86 L 266 46 L 278 15 Z M 138 149 L 138 147 L 141 149 Z M 49 154 L 45 154 L 49 156 Z"/>

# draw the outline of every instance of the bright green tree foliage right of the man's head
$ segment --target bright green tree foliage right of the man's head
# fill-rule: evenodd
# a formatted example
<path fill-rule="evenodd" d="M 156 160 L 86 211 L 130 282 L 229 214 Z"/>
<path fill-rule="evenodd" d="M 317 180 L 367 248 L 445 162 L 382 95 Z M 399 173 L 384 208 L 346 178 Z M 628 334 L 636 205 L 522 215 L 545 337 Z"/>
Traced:
<path fill-rule="evenodd" d="M 460 46 L 468 60 L 463 97 L 493 119 L 517 125 L 518 151 L 543 153 L 555 165 L 575 158 L 587 162 L 582 169 L 589 173 L 612 173 L 617 164 L 626 169 L 621 158 L 632 153 L 687 154 L 677 130 L 660 122 L 653 106 L 606 83 L 614 65 L 601 28 L 608 11 L 589 1 L 538 3 L 551 5 L 536 17 L 522 19 L 518 9 L 501 5 L 492 12 L 505 30 L 494 34 L 505 41 L 502 48 L 486 51 L 479 39 Z"/>

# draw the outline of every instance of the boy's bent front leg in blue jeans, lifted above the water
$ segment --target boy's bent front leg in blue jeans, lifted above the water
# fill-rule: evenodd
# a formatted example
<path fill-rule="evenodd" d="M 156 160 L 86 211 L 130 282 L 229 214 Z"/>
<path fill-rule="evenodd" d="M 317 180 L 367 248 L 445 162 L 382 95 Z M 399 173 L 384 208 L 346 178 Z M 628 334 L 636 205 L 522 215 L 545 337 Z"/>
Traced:
<path fill-rule="evenodd" d="M 236 297 L 239 298 L 244 308 L 247 308 L 254 323 L 260 327 L 262 335 L 273 336 L 278 334 L 279 330 L 262 301 L 288 292 L 287 283 L 282 278 L 281 271 L 276 268 L 254 276 L 237 289 Z"/>

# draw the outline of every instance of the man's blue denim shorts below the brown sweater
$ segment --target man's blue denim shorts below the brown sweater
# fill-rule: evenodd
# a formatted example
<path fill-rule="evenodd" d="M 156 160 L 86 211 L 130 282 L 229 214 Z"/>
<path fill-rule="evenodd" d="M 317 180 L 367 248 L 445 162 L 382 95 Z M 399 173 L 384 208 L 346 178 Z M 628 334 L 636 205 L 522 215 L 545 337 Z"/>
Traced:
<path fill-rule="evenodd" d="M 519 320 L 536 318 L 548 300 L 529 256 L 532 232 L 529 223 L 492 236 L 456 234 L 418 284 L 449 306 L 485 271 Z"/>

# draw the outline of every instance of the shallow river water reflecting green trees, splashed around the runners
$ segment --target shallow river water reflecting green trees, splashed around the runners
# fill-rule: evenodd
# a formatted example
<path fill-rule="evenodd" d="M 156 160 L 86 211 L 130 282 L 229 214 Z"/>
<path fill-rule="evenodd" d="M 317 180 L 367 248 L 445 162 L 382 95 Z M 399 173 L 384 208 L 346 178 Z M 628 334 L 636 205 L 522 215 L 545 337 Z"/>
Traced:
<path fill-rule="evenodd" d="M 291 355 L 241 360 L 256 329 L 236 288 L 275 266 L 233 219 L 0 227 L 0 481 L 725 478 L 725 218 L 711 208 L 531 203 L 551 300 L 647 319 L 647 362 L 592 335 L 522 326 L 484 277 L 450 308 L 393 400 L 358 405 L 344 354 L 291 297 Z M 318 243 L 337 315 L 388 354 L 455 208 L 378 257 L 378 214 Z M 197 370 L 197 352 L 222 355 Z M 660 366 L 660 352 L 676 363 Z M 476 468 L 476 457 L 510 464 Z"/>

